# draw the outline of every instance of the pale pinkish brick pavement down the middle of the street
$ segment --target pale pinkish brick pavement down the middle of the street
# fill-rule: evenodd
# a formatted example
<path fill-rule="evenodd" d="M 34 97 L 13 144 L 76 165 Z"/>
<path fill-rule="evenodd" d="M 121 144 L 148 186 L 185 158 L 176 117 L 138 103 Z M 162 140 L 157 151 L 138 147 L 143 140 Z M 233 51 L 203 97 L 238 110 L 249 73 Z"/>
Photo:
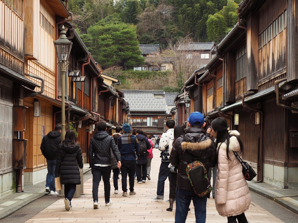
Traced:
<path fill-rule="evenodd" d="M 160 165 L 159 151 L 153 150 L 155 155 L 151 163 L 150 177 L 151 181 L 137 184 L 135 181 L 136 195 L 122 197 L 121 179 L 118 180 L 119 194 L 114 194 L 113 180 L 111 179 L 111 206 L 105 206 L 103 182 L 99 185 L 99 209 L 93 209 L 92 199 L 92 178 L 84 183 L 85 194 L 81 197 L 74 197 L 72 200 L 72 209 L 64 209 L 63 198 L 53 203 L 40 213 L 29 219 L 27 223 L 53 223 L 53 222 L 88 222 L 88 223 L 114 223 L 114 222 L 142 222 L 159 223 L 174 222 L 175 203 L 172 212 L 166 211 L 169 203 L 166 202 L 169 196 L 169 182 L 165 183 L 164 201 L 154 201 L 152 198 L 156 195 L 157 178 Z M 121 178 L 121 176 L 120 176 Z M 195 213 L 193 204 L 190 205 L 190 212 L 186 222 L 195 222 Z M 247 219 L 252 223 L 283 223 L 280 219 L 273 216 L 268 211 L 261 208 L 254 202 L 251 203 L 248 211 L 245 212 Z M 214 199 L 207 201 L 207 219 L 208 223 L 226 223 L 225 217 L 219 216 L 215 208 Z"/>

